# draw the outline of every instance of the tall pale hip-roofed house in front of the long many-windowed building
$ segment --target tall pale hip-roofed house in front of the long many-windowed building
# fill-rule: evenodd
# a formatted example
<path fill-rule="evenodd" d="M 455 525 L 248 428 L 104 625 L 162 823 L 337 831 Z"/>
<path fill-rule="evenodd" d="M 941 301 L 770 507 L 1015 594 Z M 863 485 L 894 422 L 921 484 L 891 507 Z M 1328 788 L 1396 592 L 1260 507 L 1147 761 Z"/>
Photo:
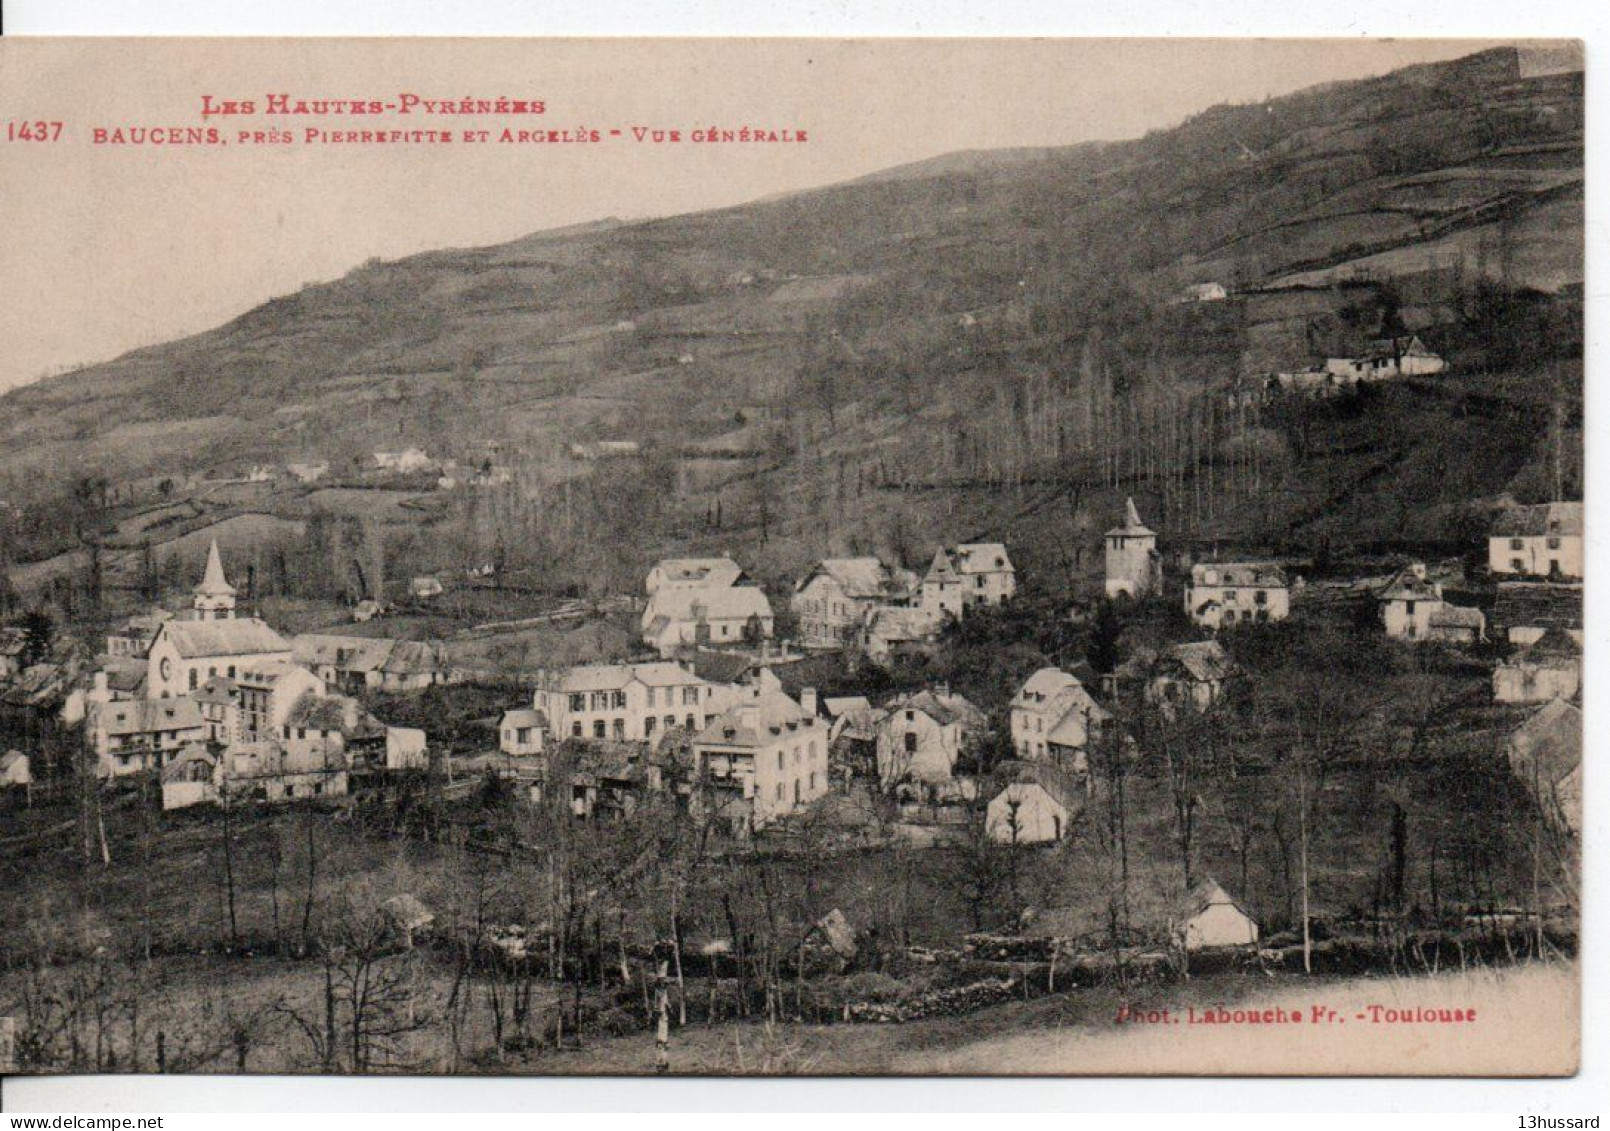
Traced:
<path fill-rule="evenodd" d="M 750 828 L 828 796 L 826 720 L 762 685 L 694 736 L 692 756 L 696 778 L 747 807 Z"/>

